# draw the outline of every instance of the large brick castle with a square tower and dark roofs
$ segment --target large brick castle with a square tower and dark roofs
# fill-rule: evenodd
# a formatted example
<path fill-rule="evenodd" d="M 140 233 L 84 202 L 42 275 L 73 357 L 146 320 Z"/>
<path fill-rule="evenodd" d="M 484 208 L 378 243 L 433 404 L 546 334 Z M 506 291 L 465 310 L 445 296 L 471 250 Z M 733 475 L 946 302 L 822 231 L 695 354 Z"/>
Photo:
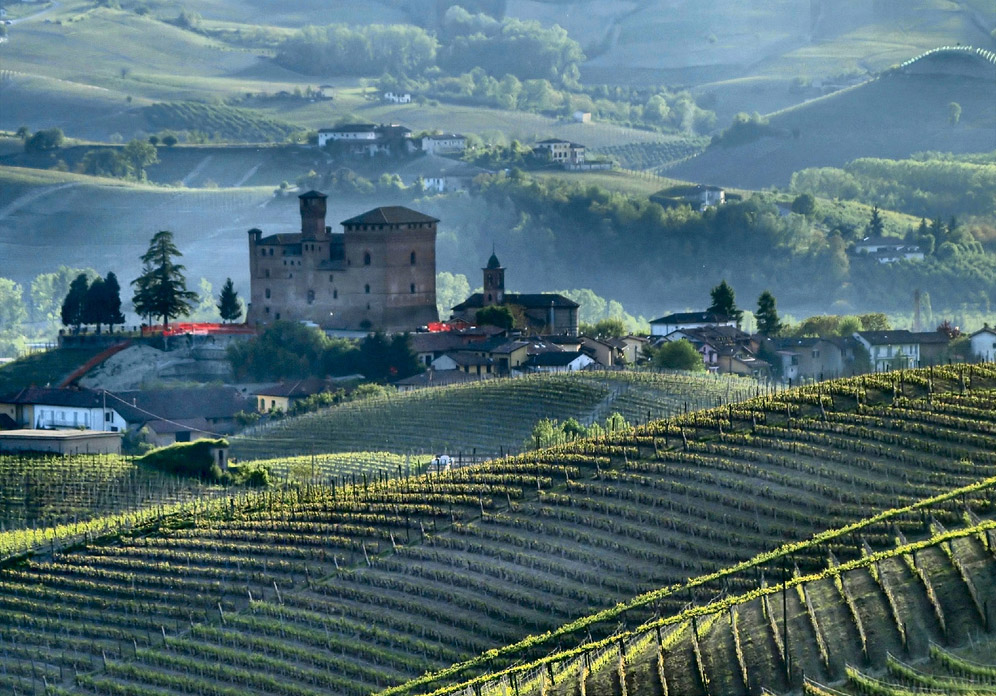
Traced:
<path fill-rule="evenodd" d="M 298 197 L 301 232 L 249 230 L 247 321 L 307 321 L 329 330 L 412 331 L 438 320 L 436 223 L 401 206 L 325 226 L 325 194 Z"/>

